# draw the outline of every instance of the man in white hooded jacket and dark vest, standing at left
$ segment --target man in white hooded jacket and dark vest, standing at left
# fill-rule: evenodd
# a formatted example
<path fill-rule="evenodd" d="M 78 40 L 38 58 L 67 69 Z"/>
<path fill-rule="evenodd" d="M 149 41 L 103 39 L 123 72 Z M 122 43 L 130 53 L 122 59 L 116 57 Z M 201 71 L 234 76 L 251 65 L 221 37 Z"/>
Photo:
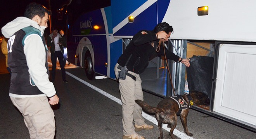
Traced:
<path fill-rule="evenodd" d="M 50 104 L 59 103 L 59 97 L 48 79 L 48 49 L 43 37 L 49 14 L 43 5 L 30 3 L 25 17 L 17 17 L 2 28 L 2 34 L 10 38 L 7 44 L 8 65 L 12 70 L 9 96 L 21 112 L 31 139 L 53 139 L 55 135 Z"/>

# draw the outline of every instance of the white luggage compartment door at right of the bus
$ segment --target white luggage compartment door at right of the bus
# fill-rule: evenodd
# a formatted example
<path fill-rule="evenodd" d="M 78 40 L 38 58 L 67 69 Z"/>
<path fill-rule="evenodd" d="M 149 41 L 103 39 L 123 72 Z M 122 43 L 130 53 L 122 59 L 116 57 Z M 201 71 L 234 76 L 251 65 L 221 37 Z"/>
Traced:
<path fill-rule="evenodd" d="M 213 111 L 256 128 L 256 45 L 220 44 L 216 66 Z"/>

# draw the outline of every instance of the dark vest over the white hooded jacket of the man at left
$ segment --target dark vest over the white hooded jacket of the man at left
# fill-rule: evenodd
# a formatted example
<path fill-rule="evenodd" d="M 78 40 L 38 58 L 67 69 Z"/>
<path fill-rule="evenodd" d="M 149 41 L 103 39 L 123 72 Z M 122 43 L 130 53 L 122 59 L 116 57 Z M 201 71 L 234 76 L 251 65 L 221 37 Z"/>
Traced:
<path fill-rule="evenodd" d="M 41 35 L 41 31 L 34 27 L 25 27 L 17 31 L 13 36 L 10 37 L 8 47 L 8 65 L 12 70 L 10 79 L 10 90 L 9 92 L 16 95 L 39 95 L 43 94 L 35 83 L 33 82 L 31 75 L 28 72 L 28 66 L 26 62 L 26 56 L 24 54 L 24 42 L 26 37 L 29 35 L 38 35 L 41 37 L 43 44 L 45 45 L 46 62 L 45 67 L 48 73 L 47 63 L 47 46 L 44 37 Z M 30 46 L 33 47 L 33 46 Z"/>

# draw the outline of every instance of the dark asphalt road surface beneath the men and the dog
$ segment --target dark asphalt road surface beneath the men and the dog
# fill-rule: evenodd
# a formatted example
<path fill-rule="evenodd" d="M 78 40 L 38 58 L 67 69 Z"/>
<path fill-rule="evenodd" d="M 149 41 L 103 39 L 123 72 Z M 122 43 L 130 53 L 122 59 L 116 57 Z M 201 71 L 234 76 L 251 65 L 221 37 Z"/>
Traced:
<path fill-rule="evenodd" d="M 2 56 L 0 58 L 2 66 Z M 83 69 L 73 67 L 75 66 L 66 67 L 67 84 L 62 83 L 61 71 L 56 71 L 55 89 L 60 104 L 52 107 L 56 119 L 55 139 L 121 139 L 123 129 L 118 83 L 111 79 L 87 80 Z M 10 75 L 0 74 L 0 139 L 28 139 L 29 133 L 22 115 L 10 101 L 9 84 Z M 156 106 L 162 99 L 144 92 L 144 101 L 152 106 Z M 147 124 L 154 124 L 154 115 L 144 116 L 148 119 Z M 192 109 L 187 119 L 189 131 L 194 136 L 184 135 L 178 119 L 178 138 L 256 139 L 255 132 Z M 145 136 L 146 139 L 157 139 L 159 130 L 156 125 L 154 126 L 151 131 L 140 131 L 138 134 Z M 165 130 L 164 139 L 170 139 L 168 131 Z"/>

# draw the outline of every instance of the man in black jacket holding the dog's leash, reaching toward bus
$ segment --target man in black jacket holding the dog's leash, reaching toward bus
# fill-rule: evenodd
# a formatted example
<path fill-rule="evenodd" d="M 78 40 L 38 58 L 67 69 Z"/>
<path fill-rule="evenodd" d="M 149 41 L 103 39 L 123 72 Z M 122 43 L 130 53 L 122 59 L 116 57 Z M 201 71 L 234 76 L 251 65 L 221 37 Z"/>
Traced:
<path fill-rule="evenodd" d="M 153 31 L 139 31 L 133 36 L 124 53 L 118 59 L 114 71 L 119 79 L 122 100 L 123 139 L 145 139 L 135 131 L 154 128 L 153 125 L 145 123 L 145 119 L 142 117 L 142 108 L 135 103 L 135 100 L 143 101 L 142 80 L 139 74 L 147 67 L 149 58 L 156 54 L 159 39 L 162 39 L 162 46 L 160 46 L 158 54 L 164 56 L 165 49 L 166 58 L 179 61 L 187 67 L 190 66 L 189 59 L 182 59 L 163 46 L 163 42 L 168 41 L 171 32 L 173 32 L 173 28 L 166 22 L 157 24 Z M 135 125 L 133 125 L 133 121 Z"/>

